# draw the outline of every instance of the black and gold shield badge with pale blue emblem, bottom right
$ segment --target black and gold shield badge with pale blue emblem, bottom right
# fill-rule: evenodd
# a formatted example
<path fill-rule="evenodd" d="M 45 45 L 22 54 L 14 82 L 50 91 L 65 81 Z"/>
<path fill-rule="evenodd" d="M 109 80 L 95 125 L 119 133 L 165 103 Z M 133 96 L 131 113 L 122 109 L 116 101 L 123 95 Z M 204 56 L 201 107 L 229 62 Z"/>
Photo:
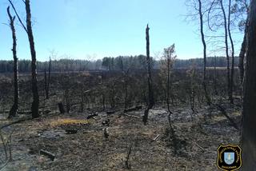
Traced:
<path fill-rule="evenodd" d="M 233 171 L 241 168 L 241 153 L 242 149 L 238 145 L 220 145 L 217 158 L 218 169 Z"/>

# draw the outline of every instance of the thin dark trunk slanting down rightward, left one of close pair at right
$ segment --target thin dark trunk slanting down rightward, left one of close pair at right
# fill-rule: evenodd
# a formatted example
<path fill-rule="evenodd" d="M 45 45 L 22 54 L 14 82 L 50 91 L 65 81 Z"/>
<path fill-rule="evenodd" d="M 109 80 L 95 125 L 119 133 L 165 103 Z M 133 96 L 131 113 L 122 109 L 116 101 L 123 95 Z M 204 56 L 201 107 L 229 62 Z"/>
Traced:
<path fill-rule="evenodd" d="M 230 103 L 233 103 L 233 97 L 232 97 L 232 91 L 231 91 L 231 82 L 230 82 L 230 56 L 229 56 L 228 28 L 227 28 L 227 22 L 226 22 L 226 12 L 225 12 L 222 0 L 220 2 L 221 2 L 223 19 L 224 19 L 224 30 L 225 30 L 227 91 L 228 91 L 228 96 L 229 96 L 229 99 L 230 99 Z"/>

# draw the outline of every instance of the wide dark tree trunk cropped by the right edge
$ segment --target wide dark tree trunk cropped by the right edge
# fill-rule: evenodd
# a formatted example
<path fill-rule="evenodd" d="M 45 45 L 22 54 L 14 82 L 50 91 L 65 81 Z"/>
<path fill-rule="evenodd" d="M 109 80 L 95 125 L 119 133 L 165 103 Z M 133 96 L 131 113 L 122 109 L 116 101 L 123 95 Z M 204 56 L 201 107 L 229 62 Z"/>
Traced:
<path fill-rule="evenodd" d="M 256 1 L 250 0 L 242 115 L 242 170 L 256 167 Z"/>

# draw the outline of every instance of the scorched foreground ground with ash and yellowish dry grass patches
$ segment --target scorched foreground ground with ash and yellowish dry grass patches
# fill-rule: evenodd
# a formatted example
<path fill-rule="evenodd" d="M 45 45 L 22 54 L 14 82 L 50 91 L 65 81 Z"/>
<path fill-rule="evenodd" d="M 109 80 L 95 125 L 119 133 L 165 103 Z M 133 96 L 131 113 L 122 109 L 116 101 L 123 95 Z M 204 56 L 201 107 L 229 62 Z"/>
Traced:
<path fill-rule="evenodd" d="M 4 137 L 13 132 L 13 160 L 2 170 L 126 170 L 130 145 L 131 170 L 218 170 L 218 145 L 239 144 L 239 131 L 222 113 L 208 106 L 198 109 L 198 113 L 192 113 L 186 105 L 172 106 L 172 110 L 175 139 L 162 106 L 150 110 L 147 125 L 142 123 L 144 109 L 126 114 L 120 109 L 109 115 L 98 112 L 98 116 L 88 120 L 93 111 L 60 114 L 56 110 L 38 119 L 6 126 L 2 129 Z M 226 105 L 226 111 L 239 125 L 239 108 Z M 14 120 L 1 115 L 0 125 L 21 118 L 29 115 L 19 115 Z M 109 126 L 102 125 L 106 119 L 110 119 Z M 104 137 L 106 127 L 108 138 Z M 66 129 L 78 132 L 67 134 Z M 54 161 L 40 154 L 41 149 L 53 153 Z M 1 167 L 5 158 L 2 144 L 0 158 Z"/>

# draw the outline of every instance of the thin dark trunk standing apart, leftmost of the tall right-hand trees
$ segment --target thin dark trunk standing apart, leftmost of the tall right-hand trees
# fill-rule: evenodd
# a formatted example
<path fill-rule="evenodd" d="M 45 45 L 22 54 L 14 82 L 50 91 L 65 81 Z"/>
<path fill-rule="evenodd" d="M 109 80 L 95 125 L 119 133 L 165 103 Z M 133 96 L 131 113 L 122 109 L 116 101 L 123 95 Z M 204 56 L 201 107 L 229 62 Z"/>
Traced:
<path fill-rule="evenodd" d="M 204 89 L 205 97 L 206 97 L 206 102 L 207 105 L 210 105 L 210 96 L 207 91 L 207 86 L 206 86 L 206 40 L 205 40 L 205 34 L 203 32 L 203 20 L 202 20 L 202 2 L 201 0 L 198 0 L 198 5 L 199 5 L 199 16 L 200 16 L 200 33 L 201 33 L 201 38 L 202 38 L 202 46 L 203 46 L 203 82 L 202 86 Z"/>

